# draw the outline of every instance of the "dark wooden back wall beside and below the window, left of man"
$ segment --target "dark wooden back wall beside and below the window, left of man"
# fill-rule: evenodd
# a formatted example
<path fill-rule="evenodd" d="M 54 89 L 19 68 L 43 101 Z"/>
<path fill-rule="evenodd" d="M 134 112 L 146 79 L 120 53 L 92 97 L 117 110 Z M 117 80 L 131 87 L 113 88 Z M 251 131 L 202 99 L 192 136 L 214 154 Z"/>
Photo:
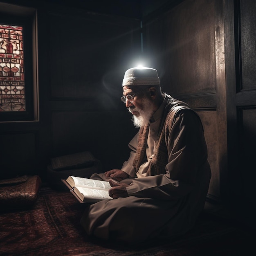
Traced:
<path fill-rule="evenodd" d="M 32 1 L 34 3 L 34 1 Z M 140 21 L 38 5 L 39 120 L 0 123 L 1 178 L 39 174 L 51 157 L 90 151 L 102 171 L 121 168 L 137 132 L 122 96 L 140 56 Z"/>

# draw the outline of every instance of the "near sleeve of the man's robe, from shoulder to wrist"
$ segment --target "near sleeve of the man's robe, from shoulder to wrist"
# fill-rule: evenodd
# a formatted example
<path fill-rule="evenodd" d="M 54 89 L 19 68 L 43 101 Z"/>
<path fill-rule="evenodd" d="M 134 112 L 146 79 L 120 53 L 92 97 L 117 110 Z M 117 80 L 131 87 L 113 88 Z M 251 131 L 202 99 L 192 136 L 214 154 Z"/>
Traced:
<path fill-rule="evenodd" d="M 207 163 L 207 146 L 201 121 L 192 110 L 178 113 L 166 146 L 166 174 L 134 179 L 126 188 L 128 195 L 171 200 L 182 198 L 199 186 L 198 172 Z"/>

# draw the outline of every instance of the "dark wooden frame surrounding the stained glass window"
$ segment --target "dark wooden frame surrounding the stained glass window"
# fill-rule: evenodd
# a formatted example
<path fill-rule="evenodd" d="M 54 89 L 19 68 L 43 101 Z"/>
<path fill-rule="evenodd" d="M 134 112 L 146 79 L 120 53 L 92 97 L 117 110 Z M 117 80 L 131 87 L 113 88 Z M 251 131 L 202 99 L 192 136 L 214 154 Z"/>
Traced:
<path fill-rule="evenodd" d="M 0 112 L 0 122 L 39 121 L 36 9 L 0 3 L 0 10 L 0 24 L 23 28 L 26 105 L 25 111 Z"/>

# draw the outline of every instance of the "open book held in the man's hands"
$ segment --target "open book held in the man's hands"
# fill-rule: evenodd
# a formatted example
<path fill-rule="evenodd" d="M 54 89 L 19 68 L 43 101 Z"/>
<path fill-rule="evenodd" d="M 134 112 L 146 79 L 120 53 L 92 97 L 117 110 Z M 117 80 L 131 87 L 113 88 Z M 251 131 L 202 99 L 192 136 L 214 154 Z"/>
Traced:
<path fill-rule="evenodd" d="M 74 197 L 81 203 L 113 199 L 108 195 L 108 190 L 111 188 L 108 181 L 74 176 L 69 176 L 67 180 L 62 181 L 70 189 Z"/>

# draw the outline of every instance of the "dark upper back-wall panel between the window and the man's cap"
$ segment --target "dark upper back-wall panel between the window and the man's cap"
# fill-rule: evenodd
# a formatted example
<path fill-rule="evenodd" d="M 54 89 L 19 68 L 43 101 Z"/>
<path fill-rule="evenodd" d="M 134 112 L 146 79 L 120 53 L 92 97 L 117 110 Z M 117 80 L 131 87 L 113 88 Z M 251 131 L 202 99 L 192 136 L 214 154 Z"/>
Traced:
<path fill-rule="evenodd" d="M 49 22 L 53 99 L 95 99 L 104 88 L 120 92 L 126 65 L 139 54 L 139 20 L 49 13 Z"/>

